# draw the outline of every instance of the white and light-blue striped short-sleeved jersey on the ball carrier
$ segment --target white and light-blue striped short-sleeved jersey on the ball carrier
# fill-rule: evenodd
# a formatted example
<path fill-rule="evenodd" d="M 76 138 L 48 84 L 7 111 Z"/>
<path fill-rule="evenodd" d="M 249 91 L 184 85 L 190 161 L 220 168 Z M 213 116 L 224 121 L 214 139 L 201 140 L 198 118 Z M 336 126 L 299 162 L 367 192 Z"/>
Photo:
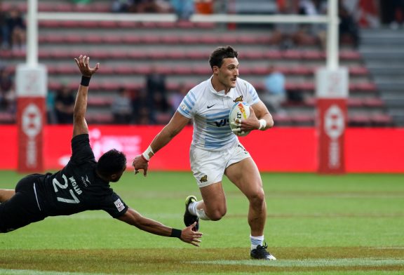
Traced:
<path fill-rule="evenodd" d="M 177 112 L 194 120 L 192 146 L 217 151 L 237 144 L 229 126 L 229 112 L 234 102 L 254 105 L 260 101 L 257 91 L 247 81 L 237 78 L 229 93 L 217 92 L 210 79 L 199 83 L 185 95 Z"/>

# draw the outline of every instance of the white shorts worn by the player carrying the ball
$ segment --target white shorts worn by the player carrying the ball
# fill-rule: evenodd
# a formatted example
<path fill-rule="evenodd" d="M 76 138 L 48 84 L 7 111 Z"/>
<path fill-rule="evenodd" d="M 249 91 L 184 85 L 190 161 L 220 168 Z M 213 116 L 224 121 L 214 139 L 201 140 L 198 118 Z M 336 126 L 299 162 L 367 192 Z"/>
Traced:
<path fill-rule="evenodd" d="M 191 147 L 189 152 L 191 170 L 199 188 L 221 182 L 227 167 L 249 157 L 250 153 L 244 149 L 241 143 L 222 151 L 208 151 Z"/>

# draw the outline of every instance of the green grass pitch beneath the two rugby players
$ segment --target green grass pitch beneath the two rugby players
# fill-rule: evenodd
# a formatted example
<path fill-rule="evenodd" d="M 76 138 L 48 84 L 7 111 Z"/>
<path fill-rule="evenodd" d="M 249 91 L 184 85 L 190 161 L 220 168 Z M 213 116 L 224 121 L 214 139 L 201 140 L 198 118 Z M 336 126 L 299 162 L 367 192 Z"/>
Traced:
<path fill-rule="evenodd" d="M 1 171 L 0 188 L 20 177 Z M 88 211 L 0 234 L 0 274 L 404 274 L 404 175 L 262 180 L 265 239 L 277 261 L 249 259 L 248 201 L 225 179 L 227 215 L 201 222 L 200 248 Z M 128 172 L 112 187 L 142 215 L 177 228 L 185 197 L 200 198 L 191 173 Z"/>

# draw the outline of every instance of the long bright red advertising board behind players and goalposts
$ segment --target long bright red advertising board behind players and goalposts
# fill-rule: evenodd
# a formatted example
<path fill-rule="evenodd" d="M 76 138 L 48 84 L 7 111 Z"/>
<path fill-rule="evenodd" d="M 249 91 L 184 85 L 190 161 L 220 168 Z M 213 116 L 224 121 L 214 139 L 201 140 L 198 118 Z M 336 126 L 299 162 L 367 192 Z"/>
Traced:
<path fill-rule="evenodd" d="M 162 126 L 90 126 L 95 156 L 116 147 L 123 150 L 131 169 L 133 157 L 147 148 Z M 18 127 L 0 126 L 0 169 L 18 167 Z M 192 128 L 186 127 L 150 161 L 152 170 L 189 170 Z M 72 126 L 43 128 L 44 170 L 61 168 L 72 150 Z M 262 172 L 318 170 L 316 128 L 273 128 L 240 138 Z M 344 156 L 347 173 L 404 173 L 404 128 L 346 128 Z M 41 172 L 41 171 L 38 171 Z"/>

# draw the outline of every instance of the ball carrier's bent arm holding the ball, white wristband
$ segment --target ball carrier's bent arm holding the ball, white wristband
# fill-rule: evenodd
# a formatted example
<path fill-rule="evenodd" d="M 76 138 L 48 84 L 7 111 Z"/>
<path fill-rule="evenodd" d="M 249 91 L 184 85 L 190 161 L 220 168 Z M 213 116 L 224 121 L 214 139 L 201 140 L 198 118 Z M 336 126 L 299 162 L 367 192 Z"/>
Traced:
<path fill-rule="evenodd" d="M 250 116 L 241 122 L 241 130 L 267 130 L 274 126 L 274 119 L 261 100 L 250 107 Z"/>

